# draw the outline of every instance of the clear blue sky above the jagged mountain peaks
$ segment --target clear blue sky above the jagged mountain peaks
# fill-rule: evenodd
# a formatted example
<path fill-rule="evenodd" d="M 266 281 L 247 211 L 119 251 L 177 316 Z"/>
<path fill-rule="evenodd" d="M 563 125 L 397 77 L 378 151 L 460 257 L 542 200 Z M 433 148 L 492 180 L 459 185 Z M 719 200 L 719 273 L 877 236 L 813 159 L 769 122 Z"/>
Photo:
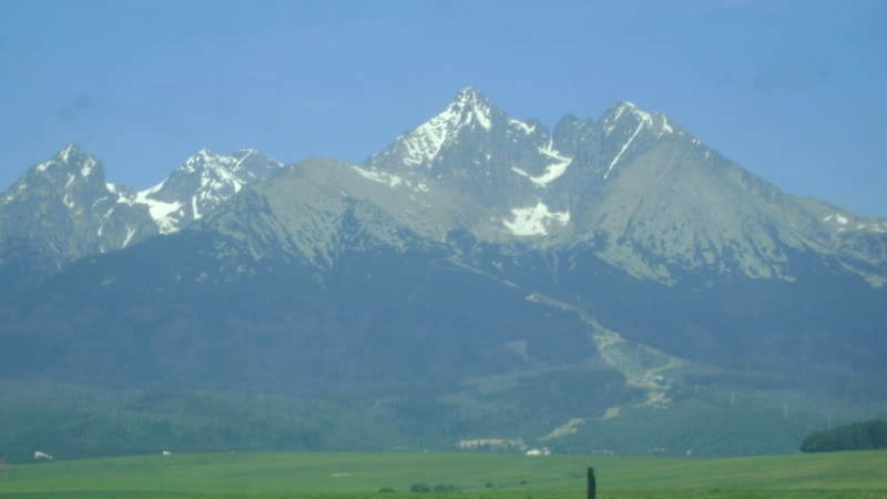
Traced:
<path fill-rule="evenodd" d="M 785 191 L 887 216 L 887 2 L 0 2 L 0 190 L 69 142 L 146 187 L 200 149 L 359 162 L 473 85 L 621 100 Z"/>

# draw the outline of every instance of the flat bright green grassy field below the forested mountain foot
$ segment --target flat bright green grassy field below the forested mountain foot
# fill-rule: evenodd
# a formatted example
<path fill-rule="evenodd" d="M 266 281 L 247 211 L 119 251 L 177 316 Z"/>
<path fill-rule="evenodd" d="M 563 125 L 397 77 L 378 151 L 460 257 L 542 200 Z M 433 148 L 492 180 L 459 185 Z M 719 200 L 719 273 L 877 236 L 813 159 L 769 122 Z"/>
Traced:
<path fill-rule="evenodd" d="M 215 454 L 0 467 L 10 497 L 887 498 L 887 452 L 732 459 L 485 454 Z M 410 485 L 452 485 L 408 495 Z M 391 488 L 398 492 L 379 492 Z"/>

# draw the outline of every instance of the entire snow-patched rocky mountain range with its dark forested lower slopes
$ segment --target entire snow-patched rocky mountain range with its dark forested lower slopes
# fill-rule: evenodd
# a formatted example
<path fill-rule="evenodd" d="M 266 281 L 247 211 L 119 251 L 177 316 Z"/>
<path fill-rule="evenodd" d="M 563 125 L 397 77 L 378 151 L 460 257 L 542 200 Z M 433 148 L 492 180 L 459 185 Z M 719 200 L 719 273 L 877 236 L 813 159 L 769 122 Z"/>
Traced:
<path fill-rule="evenodd" d="M 10 404 L 116 394 L 194 450 L 281 447 L 131 390 L 268 394 L 298 420 L 243 425 L 286 449 L 785 451 L 887 407 L 887 221 L 630 102 L 549 131 L 468 88 L 360 164 L 201 151 L 145 191 L 72 144 L 0 196 L 0 283 Z"/>

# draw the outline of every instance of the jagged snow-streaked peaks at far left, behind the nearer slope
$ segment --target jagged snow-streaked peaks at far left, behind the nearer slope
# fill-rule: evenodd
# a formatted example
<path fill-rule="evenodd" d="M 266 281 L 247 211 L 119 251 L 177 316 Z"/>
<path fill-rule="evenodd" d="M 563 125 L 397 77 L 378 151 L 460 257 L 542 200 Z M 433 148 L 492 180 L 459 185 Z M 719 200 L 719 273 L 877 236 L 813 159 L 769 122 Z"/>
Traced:
<path fill-rule="evenodd" d="M 0 268 L 33 282 L 92 254 L 120 249 L 200 220 L 283 164 L 255 151 L 201 151 L 166 180 L 135 191 L 105 181 L 100 159 L 70 144 L 0 197 Z"/>

